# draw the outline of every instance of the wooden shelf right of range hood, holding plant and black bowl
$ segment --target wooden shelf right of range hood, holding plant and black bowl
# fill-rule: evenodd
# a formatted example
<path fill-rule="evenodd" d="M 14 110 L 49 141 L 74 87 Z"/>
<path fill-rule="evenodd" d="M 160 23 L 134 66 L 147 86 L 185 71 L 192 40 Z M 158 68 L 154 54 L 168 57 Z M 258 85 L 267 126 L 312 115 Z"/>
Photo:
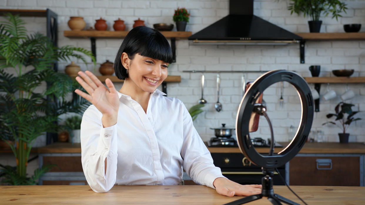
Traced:
<path fill-rule="evenodd" d="M 295 33 L 303 40 L 365 40 L 365 32 L 361 33 Z"/>

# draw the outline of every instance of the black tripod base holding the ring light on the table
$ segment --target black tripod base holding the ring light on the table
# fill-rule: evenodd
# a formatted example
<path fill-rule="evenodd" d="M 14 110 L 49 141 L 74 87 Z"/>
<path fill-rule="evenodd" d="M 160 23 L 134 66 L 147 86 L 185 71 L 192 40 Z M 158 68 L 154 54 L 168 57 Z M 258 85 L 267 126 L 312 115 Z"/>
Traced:
<path fill-rule="evenodd" d="M 241 199 L 233 201 L 233 202 L 229 202 L 224 205 L 246 204 L 250 201 L 255 201 L 262 197 L 268 197 L 268 200 L 274 205 L 281 205 L 281 202 L 283 202 L 285 204 L 290 204 L 290 205 L 300 205 L 300 204 L 298 204 L 294 201 L 288 200 L 287 198 L 284 198 L 278 194 L 274 194 L 273 179 L 272 179 L 272 176 L 274 175 L 273 169 L 267 169 L 267 168 L 263 167 L 262 173 L 265 174 L 265 176 L 262 177 L 262 181 L 261 181 L 262 182 L 261 194 L 251 195 L 251 196 L 241 198 Z"/>

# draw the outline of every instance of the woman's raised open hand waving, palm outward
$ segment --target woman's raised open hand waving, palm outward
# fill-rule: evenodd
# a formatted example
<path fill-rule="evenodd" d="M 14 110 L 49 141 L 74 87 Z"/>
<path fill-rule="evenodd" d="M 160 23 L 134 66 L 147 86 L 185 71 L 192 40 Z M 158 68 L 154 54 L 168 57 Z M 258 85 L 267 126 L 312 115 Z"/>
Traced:
<path fill-rule="evenodd" d="M 76 80 L 88 92 L 76 89 L 76 94 L 91 102 L 102 114 L 101 118 L 104 127 L 115 125 L 118 117 L 119 96 L 112 81 L 107 78 L 105 84 L 109 90 L 90 71 L 78 72 Z"/>

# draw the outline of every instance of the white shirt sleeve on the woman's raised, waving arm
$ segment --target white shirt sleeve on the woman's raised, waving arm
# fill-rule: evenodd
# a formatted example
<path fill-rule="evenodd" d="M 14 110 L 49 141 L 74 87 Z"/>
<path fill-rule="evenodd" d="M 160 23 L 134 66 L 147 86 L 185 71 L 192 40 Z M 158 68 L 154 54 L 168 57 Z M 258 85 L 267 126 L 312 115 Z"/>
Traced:
<path fill-rule="evenodd" d="M 81 163 L 91 189 L 104 193 L 108 192 L 116 181 L 118 147 L 116 125 L 104 128 L 101 117 L 102 114 L 93 105 L 82 116 Z"/>

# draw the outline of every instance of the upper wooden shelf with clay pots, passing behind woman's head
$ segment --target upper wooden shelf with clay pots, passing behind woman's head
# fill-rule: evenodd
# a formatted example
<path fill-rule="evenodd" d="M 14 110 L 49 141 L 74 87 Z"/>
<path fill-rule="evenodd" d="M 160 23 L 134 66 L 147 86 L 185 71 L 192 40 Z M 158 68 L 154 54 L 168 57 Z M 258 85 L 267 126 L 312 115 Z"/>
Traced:
<path fill-rule="evenodd" d="M 129 31 L 64 31 L 68 38 L 124 38 Z M 187 39 L 191 31 L 161 31 L 166 38 Z"/>

